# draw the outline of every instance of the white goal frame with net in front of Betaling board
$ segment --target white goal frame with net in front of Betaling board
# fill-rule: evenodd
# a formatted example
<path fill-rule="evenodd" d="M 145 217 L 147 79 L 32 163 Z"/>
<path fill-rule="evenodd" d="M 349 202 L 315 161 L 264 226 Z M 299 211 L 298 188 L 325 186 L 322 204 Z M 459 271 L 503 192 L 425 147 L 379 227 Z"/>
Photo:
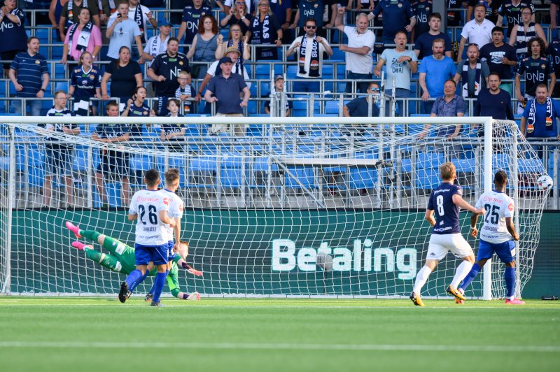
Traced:
<path fill-rule="evenodd" d="M 73 221 L 134 245 L 123 217 L 130 194 L 122 174 L 100 168 L 105 152 L 127 159 L 132 192 L 147 169 L 180 170 L 188 261 L 204 272 L 201 278 L 181 272 L 180 283 L 209 296 L 406 296 L 426 259 L 430 229 L 423 213 L 444 161 L 456 165 L 470 203 L 492 188 L 495 171 L 507 171 L 521 235 L 519 296 L 531 277 L 549 193 L 535 186 L 546 169 L 517 125 L 491 117 L 118 117 L 118 124 L 141 125 L 144 134 L 119 143 L 91 137 L 102 124 L 116 124 L 111 117 L 7 116 L 0 122 L 3 293 L 118 291 L 122 273 L 72 248 L 76 238 L 63 226 Z M 36 123 L 80 124 L 82 133 Z M 164 124 L 184 128 L 184 136 L 162 141 Z M 241 125 L 247 133 L 210 136 L 212 124 Z M 425 124 L 431 124 L 428 136 L 419 140 Z M 442 136 L 457 125 L 459 136 Z M 71 149 L 71 186 L 55 174 L 47 199 L 45 157 L 53 143 Z M 465 235 L 469 215 L 461 213 Z M 477 248 L 478 241 L 468 242 Z M 455 267 L 449 255 L 430 276 L 425 296 L 446 296 Z M 500 262 L 486 264 L 467 296 L 503 297 L 501 273 Z"/>

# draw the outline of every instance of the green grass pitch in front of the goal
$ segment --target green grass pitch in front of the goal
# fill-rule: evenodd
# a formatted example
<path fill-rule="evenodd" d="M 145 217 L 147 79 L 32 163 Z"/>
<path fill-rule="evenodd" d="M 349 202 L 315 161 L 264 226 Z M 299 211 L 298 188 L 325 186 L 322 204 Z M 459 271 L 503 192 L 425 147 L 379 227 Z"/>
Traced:
<path fill-rule="evenodd" d="M 0 371 L 558 371 L 560 303 L 0 297 Z"/>

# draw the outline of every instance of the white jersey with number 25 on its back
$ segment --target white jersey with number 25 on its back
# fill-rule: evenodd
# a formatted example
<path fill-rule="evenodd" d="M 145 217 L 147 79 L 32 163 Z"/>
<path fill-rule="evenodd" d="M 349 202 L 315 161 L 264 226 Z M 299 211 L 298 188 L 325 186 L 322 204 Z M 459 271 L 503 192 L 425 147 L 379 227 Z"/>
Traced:
<path fill-rule="evenodd" d="M 512 236 L 505 227 L 505 217 L 513 217 L 513 199 L 503 192 L 484 192 L 477 201 L 477 208 L 484 208 L 484 224 L 480 238 L 488 243 L 510 241 Z"/>

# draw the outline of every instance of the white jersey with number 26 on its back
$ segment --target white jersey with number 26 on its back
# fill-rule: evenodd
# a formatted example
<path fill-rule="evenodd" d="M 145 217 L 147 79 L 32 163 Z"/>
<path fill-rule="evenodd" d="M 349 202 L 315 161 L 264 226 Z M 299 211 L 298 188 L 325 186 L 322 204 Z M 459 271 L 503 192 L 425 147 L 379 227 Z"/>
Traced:
<path fill-rule="evenodd" d="M 146 246 L 165 245 L 169 241 L 166 224 L 160 221 L 160 211 L 169 212 L 169 196 L 161 190 L 135 192 L 128 213 L 138 215 L 135 243 Z"/>

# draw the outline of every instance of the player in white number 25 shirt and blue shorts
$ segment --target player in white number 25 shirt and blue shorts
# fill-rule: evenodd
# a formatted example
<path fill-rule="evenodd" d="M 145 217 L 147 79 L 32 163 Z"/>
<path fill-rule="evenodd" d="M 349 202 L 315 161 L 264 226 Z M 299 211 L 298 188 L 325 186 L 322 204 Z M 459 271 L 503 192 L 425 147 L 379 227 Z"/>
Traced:
<path fill-rule="evenodd" d="M 523 305 L 525 302 L 514 297 L 515 290 L 515 243 L 519 241 L 519 234 L 513 225 L 514 205 L 510 196 L 505 194 L 507 174 L 505 171 L 497 171 L 494 175 L 494 189 L 484 192 L 477 201 L 477 208 L 484 208 L 484 224 L 480 229 L 480 243 L 478 246 L 477 262 L 472 265 L 467 276 L 458 290 L 465 293 L 472 280 L 492 258 L 494 252 L 505 264 L 503 278 L 505 280 L 505 303 L 508 305 Z M 470 216 L 470 236 L 477 237 L 477 221 L 479 213 Z M 462 303 L 462 301 L 458 301 Z"/>

